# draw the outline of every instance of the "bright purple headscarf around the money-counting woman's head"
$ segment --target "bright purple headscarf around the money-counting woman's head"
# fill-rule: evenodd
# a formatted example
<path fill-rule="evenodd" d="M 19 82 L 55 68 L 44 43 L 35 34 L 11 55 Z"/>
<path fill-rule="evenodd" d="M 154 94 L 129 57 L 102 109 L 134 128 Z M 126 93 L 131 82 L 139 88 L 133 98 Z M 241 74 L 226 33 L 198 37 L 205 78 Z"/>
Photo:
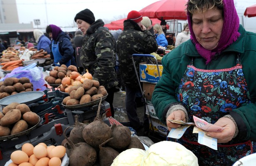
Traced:
<path fill-rule="evenodd" d="M 221 32 L 221 37 L 219 39 L 218 46 L 216 49 L 208 50 L 205 49 L 199 42 L 196 40 L 195 34 L 192 29 L 192 18 L 191 13 L 187 12 L 187 19 L 189 22 L 189 29 L 190 29 L 190 38 L 192 42 L 196 44 L 196 50 L 198 53 L 206 59 L 206 64 L 211 62 L 211 59 L 214 57 L 216 53 L 220 53 L 227 46 L 232 44 L 234 41 L 238 39 L 240 33 L 238 32 L 239 29 L 239 17 L 236 12 L 236 8 L 234 6 L 234 0 L 223 0 L 223 12 L 224 12 L 224 23 Z"/>

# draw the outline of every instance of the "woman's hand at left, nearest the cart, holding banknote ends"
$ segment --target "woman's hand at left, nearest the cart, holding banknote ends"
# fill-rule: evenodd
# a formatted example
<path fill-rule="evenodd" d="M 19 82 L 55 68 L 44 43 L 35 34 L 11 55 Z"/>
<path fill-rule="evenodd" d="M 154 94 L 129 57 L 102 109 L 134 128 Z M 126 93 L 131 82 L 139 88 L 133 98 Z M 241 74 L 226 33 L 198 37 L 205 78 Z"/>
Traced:
<path fill-rule="evenodd" d="M 168 120 L 182 120 L 183 122 L 186 122 L 186 115 L 181 110 L 176 110 L 174 112 L 171 112 L 171 114 L 166 118 L 166 124 L 167 124 L 168 130 L 170 131 L 171 128 L 178 128 L 178 127 L 181 127 L 181 125 L 177 123 L 172 123 Z"/>

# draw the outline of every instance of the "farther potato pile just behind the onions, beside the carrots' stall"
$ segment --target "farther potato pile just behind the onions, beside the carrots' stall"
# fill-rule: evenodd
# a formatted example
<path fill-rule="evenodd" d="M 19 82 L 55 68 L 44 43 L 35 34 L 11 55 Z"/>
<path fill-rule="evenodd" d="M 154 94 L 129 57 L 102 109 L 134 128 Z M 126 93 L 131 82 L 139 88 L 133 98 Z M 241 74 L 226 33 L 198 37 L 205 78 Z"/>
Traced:
<path fill-rule="evenodd" d="M 45 81 L 49 84 L 61 84 L 62 78 L 65 76 L 70 76 L 72 71 L 77 72 L 77 67 L 74 65 L 66 66 L 62 64 L 61 66 L 55 66 L 52 71 L 50 71 L 49 76 L 45 77 Z"/>

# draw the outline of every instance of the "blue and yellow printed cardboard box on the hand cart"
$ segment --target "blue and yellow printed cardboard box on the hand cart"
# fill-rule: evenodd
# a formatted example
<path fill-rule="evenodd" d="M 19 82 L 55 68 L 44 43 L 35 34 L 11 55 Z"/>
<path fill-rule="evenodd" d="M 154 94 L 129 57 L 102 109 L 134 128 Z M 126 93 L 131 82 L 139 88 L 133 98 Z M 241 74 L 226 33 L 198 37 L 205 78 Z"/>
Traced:
<path fill-rule="evenodd" d="M 160 76 L 162 76 L 163 66 L 158 65 Z M 148 82 L 156 84 L 159 81 L 159 74 L 157 70 L 157 65 L 139 63 L 139 76 L 141 82 Z"/>

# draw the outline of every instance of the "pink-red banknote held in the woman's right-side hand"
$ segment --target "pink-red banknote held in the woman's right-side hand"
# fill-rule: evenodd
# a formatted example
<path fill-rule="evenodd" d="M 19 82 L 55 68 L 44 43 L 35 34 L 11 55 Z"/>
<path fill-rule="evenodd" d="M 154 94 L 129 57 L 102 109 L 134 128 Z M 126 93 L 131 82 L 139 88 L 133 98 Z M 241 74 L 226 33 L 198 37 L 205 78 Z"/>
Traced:
<path fill-rule="evenodd" d="M 193 119 L 196 124 L 196 127 L 203 129 L 207 132 L 221 132 L 222 130 L 224 130 L 224 127 L 208 123 L 205 120 L 202 120 L 198 117 L 193 116 Z"/>

